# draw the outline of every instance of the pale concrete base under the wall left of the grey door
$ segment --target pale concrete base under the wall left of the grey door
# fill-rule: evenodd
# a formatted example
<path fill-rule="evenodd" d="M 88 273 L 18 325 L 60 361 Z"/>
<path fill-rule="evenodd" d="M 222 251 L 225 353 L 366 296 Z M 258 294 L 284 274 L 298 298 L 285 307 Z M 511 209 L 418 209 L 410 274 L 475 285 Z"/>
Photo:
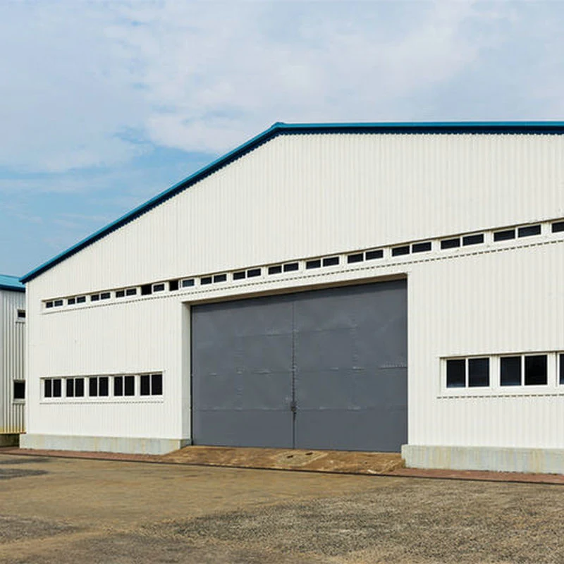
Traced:
<path fill-rule="evenodd" d="M 22 434 L 21 448 L 82 452 L 166 454 L 190 444 L 189 439 L 137 439 L 115 436 Z"/>

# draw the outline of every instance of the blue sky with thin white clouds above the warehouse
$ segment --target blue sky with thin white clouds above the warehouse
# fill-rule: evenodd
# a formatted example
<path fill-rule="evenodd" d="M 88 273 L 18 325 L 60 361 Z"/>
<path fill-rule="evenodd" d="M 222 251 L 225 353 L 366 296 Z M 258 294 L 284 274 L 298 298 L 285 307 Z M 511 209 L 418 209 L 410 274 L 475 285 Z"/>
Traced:
<path fill-rule="evenodd" d="M 0 273 L 276 121 L 563 121 L 563 29 L 560 0 L 0 0 Z"/>

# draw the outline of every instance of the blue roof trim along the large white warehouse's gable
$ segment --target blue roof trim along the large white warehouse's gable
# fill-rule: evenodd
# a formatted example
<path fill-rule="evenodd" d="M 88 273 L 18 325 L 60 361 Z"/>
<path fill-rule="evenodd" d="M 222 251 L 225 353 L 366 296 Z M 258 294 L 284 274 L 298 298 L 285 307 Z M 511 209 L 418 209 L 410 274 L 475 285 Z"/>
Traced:
<path fill-rule="evenodd" d="M 477 133 L 477 134 L 528 134 L 528 135 L 564 135 L 564 121 L 467 121 L 467 122 L 427 122 L 427 123 L 406 123 L 406 122 L 389 122 L 389 123 L 283 123 L 276 122 L 270 128 L 259 133 L 256 137 L 252 137 L 249 141 L 233 149 L 232 151 L 224 154 L 223 157 L 216 159 L 212 163 L 199 171 L 188 176 L 179 183 L 171 186 L 168 190 L 151 198 L 144 204 L 121 216 L 116 221 L 112 221 L 96 233 L 81 240 L 66 251 L 56 255 L 44 264 L 37 266 L 36 269 L 25 274 L 20 278 L 23 283 L 29 282 L 39 274 L 51 269 L 59 262 L 75 255 L 80 250 L 92 245 L 97 240 L 102 239 L 112 231 L 124 226 L 125 224 L 137 219 L 149 212 L 149 210 L 157 207 L 159 204 L 170 200 L 171 197 L 176 196 L 178 193 L 183 192 L 186 188 L 194 185 L 207 176 L 210 176 L 220 168 L 230 164 L 231 162 L 240 159 L 243 155 L 251 152 L 260 145 L 268 142 L 269 140 L 277 137 L 278 135 L 306 135 L 306 134 L 320 134 L 320 133 L 441 133 L 441 134 L 455 134 L 455 133 Z"/>

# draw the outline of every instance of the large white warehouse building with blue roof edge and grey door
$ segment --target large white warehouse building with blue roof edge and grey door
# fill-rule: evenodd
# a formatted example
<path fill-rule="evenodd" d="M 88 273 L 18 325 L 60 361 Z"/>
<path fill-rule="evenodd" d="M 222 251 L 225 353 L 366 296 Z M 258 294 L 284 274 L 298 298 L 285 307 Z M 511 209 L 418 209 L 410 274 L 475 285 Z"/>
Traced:
<path fill-rule="evenodd" d="M 276 123 L 22 278 L 27 448 L 564 472 L 564 123 Z"/>

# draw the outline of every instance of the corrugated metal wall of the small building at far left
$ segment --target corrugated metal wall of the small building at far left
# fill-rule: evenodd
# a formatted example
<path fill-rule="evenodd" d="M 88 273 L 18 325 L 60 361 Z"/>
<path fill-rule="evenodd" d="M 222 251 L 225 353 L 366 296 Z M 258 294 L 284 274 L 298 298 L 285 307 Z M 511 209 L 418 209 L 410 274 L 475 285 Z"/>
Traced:
<path fill-rule="evenodd" d="M 0 290 L 0 434 L 23 432 L 24 403 L 13 401 L 13 381 L 24 378 L 25 324 L 17 320 L 24 308 L 24 293 Z"/>

